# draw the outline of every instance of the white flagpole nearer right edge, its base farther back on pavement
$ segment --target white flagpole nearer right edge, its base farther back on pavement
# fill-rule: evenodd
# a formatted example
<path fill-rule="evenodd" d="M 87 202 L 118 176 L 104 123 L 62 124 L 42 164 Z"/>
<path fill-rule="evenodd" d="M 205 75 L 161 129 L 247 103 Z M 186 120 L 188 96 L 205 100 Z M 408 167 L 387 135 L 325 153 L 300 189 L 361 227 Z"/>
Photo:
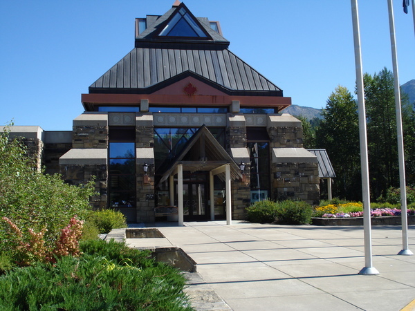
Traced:
<path fill-rule="evenodd" d="M 391 34 L 391 51 L 392 65 L 394 68 L 394 91 L 396 106 L 396 131 L 398 137 L 398 159 L 399 159 L 399 183 L 400 183 L 400 214 L 402 218 L 402 244 L 403 249 L 398 255 L 413 255 L 408 246 L 408 217 L 407 217 L 407 196 L 405 182 L 405 155 L 403 151 L 403 128 L 402 128 L 402 112 L 400 109 L 400 86 L 398 75 L 398 56 L 396 53 L 396 37 L 394 22 L 394 5 L 392 0 L 387 0 L 389 11 L 389 30 Z"/>

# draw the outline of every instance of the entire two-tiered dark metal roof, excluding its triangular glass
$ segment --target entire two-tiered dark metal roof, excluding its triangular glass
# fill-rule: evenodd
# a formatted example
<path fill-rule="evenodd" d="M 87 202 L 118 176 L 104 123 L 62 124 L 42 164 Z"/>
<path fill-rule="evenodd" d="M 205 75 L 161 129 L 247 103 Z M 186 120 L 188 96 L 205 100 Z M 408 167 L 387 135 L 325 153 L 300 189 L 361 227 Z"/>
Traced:
<path fill-rule="evenodd" d="M 187 12 L 201 37 L 160 36 L 166 25 Z M 282 90 L 228 50 L 229 41 L 181 3 L 162 16 L 147 15 L 136 48 L 89 86 L 89 93 L 151 94 L 186 75 L 228 95 L 282 96 Z"/>

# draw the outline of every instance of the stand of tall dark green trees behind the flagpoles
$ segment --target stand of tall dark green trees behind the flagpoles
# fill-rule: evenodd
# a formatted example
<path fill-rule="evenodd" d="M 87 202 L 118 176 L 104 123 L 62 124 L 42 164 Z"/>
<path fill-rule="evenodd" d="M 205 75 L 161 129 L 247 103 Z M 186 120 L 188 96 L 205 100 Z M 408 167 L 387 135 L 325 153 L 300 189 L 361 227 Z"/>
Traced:
<path fill-rule="evenodd" d="M 365 108 L 369 152 L 371 199 L 399 188 L 398 142 L 394 77 L 383 68 L 374 75 L 365 74 Z M 401 96 L 407 185 L 415 183 L 415 112 L 408 96 Z M 351 93 L 335 88 L 323 109 L 324 119 L 317 126 L 316 147 L 326 149 L 337 178 L 333 196 L 361 200 L 360 144 L 358 106 Z"/>

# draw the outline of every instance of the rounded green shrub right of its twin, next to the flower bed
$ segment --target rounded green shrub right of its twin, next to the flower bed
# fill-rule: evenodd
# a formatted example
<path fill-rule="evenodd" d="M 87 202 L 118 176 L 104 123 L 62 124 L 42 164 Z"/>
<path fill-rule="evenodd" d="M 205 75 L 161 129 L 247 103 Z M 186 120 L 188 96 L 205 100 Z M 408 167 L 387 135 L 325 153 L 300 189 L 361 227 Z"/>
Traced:
<path fill-rule="evenodd" d="M 277 202 L 276 222 L 284 225 L 309 225 L 313 208 L 307 202 L 285 200 Z"/>

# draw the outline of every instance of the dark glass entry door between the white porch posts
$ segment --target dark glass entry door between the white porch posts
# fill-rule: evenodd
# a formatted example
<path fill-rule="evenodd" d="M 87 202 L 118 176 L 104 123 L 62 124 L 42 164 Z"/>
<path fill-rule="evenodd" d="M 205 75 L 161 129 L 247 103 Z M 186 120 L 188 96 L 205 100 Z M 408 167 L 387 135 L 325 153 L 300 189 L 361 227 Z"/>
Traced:
<path fill-rule="evenodd" d="M 202 220 L 209 215 L 207 188 L 204 182 L 183 184 L 183 213 L 187 220 Z"/>

